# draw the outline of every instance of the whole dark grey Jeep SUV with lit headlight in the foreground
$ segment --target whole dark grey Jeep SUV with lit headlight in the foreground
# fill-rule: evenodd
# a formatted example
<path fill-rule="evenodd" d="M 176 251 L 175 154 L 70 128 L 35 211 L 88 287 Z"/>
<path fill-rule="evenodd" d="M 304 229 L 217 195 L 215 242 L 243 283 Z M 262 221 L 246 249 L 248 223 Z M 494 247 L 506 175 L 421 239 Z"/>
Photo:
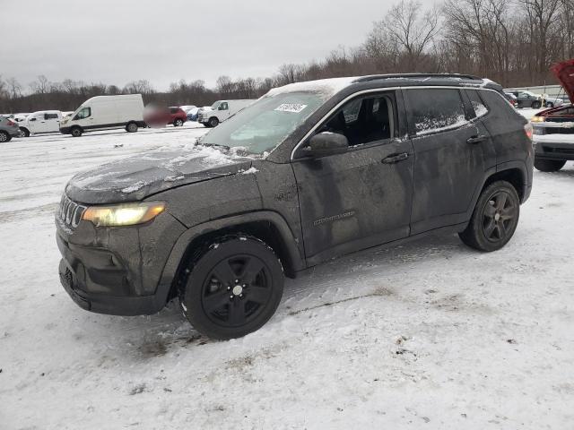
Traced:
<path fill-rule="evenodd" d="M 153 314 L 178 297 L 229 339 L 274 314 L 283 275 L 437 231 L 506 245 L 532 187 L 531 126 L 500 85 L 378 75 L 271 90 L 187 150 L 74 176 L 57 214 L 65 290 Z"/>

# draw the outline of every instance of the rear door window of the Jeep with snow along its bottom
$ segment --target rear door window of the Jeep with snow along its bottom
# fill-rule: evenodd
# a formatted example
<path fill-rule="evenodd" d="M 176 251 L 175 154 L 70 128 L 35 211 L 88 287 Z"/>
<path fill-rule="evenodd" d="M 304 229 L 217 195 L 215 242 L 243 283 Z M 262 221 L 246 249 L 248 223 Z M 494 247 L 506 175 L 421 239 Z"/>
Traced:
<path fill-rule="evenodd" d="M 467 123 L 459 90 L 408 89 L 406 97 L 417 135 L 439 133 Z"/>

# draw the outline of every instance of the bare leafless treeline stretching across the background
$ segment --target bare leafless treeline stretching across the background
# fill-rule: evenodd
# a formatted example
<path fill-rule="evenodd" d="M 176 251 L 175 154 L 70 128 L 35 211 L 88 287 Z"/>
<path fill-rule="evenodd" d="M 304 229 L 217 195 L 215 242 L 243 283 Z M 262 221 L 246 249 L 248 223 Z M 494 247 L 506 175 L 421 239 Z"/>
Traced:
<path fill-rule="evenodd" d="M 574 57 L 574 0 L 445 0 L 428 8 L 414 0 L 391 7 L 359 47 L 340 47 L 325 59 L 283 64 L 268 78 L 232 80 L 215 88 L 181 80 L 170 90 L 148 81 L 124 87 L 40 75 L 27 88 L 0 76 L 0 112 L 74 110 L 97 95 L 141 93 L 145 103 L 210 105 L 216 99 L 254 99 L 291 82 L 374 73 L 471 73 L 504 87 L 556 83 L 551 64 Z"/>

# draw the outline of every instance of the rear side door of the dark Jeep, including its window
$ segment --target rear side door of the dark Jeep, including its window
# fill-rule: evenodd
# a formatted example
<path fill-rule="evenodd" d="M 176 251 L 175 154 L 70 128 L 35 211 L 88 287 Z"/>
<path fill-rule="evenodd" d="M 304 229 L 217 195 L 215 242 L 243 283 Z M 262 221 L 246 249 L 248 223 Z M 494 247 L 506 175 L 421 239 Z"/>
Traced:
<path fill-rule="evenodd" d="M 412 234 L 468 220 L 489 168 L 490 136 L 471 121 L 462 90 L 404 90 L 415 153 Z"/>

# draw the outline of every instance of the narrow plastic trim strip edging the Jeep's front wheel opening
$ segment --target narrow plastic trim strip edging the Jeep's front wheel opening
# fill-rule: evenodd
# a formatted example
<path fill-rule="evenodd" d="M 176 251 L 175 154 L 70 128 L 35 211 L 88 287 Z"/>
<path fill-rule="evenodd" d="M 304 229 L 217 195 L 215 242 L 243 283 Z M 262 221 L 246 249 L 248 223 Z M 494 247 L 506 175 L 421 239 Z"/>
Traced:
<path fill-rule="evenodd" d="M 257 211 L 246 214 L 234 215 L 222 219 L 213 219 L 211 221 L 198 224 L 195 227 L 188 228 L 171 249 L 170 256 L 166 262 L 161 273 L 161 279 L 155 291 L 157 303 L 166 304 L 170 295 L 170 289 L 173 281 L 178 275 L 179 264 L 187 251 L 187 246 L 199 236 L 206 233 L 220 230 L 222 228 L 230 228 L 239 226 L 248 222 L 265 221 L 270 222 L 280 232 L 283 243 L 286 245 L 289 258 L 293 266 L 293 271 L 302 271 L 306 265 L 304 259 L 301 257 L 300 250 L 296 245 L 295 236 L 291 232 L 291 228 L 283 217 L 274 211 Z"/>

